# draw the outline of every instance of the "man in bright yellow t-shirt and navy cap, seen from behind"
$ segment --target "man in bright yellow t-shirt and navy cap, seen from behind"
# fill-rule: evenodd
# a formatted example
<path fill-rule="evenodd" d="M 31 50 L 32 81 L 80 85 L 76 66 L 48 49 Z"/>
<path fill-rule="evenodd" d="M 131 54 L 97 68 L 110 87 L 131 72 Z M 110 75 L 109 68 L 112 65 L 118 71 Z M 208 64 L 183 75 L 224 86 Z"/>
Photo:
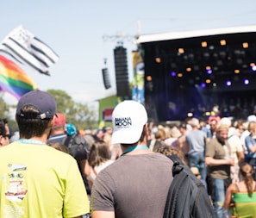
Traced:
<path fill-rule="evenodd" d="M 56 102 L 30 91 L 16 108 L 20 139 L 1 148 L 0 217 L 81 217 L 90 212 L 75 159 L 47 146 Z"/>

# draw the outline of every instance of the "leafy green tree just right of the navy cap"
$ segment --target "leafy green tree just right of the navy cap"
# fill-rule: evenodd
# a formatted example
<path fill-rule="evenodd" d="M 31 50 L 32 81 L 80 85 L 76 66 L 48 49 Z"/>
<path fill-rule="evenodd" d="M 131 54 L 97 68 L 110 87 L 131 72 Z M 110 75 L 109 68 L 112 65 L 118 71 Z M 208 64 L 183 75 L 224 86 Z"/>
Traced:
<path fill-rule="evenodd" d="M 66 121 L 78 129 L 97 128 L 97 110 L 85 103 L 76 103 L 64 90 L 47 90 L 57 103 L 58 112 L 66 115 Z"/>

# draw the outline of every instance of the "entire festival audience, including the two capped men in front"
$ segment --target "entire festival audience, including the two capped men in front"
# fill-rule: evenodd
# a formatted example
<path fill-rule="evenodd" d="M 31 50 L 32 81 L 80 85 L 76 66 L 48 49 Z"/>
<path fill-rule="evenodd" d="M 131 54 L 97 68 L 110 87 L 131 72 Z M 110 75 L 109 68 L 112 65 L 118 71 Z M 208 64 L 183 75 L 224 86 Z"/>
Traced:
<path fill-rule="evenodd" d="M 217 218 L 256 217 L 256 115 L 154 123 L 124 101 L 111 127 L 78 131 L 36 90 L 16 121 L 18 137 L 0 120 L 0 217 L 163 217 L 170 154 L 202 181 Z"/>

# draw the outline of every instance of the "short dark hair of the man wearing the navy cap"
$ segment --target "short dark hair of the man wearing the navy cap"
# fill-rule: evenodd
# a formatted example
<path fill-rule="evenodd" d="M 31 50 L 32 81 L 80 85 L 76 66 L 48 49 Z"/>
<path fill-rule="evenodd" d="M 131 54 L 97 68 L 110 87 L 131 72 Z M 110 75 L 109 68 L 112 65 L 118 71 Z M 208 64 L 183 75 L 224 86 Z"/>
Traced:
<path fill-rule="evenodd" d="M 35 108 L 33 105 L 26 105 L 22 108 L 22 114 L 26 116 L 22 117 L 17 115 L 16 121 L 18 123 L 20 135 L 25 138 L 29 139 L 33 136 L 40 137 L 44 134 L 45 130 L 47 129 L 49 121 L 52 119 L 36 119 L 36 118 L 27 118 L 27 117 L 35 117 L 36 115 L 40 114 L 40 111 Z"/>

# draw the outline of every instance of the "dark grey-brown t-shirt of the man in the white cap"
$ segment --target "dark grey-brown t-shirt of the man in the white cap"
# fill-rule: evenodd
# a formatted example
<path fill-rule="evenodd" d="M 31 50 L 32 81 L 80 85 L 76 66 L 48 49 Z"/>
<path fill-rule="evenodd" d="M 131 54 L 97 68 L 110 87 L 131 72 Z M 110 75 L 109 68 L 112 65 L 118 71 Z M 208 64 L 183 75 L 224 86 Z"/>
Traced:
<path fill-rule="evenodd" d="M 91 190 L 91 209 L 116 218 L 160 218 L 172 182 L 172 161 L 160 153 L 124 155 L 101 171 Z"/>

